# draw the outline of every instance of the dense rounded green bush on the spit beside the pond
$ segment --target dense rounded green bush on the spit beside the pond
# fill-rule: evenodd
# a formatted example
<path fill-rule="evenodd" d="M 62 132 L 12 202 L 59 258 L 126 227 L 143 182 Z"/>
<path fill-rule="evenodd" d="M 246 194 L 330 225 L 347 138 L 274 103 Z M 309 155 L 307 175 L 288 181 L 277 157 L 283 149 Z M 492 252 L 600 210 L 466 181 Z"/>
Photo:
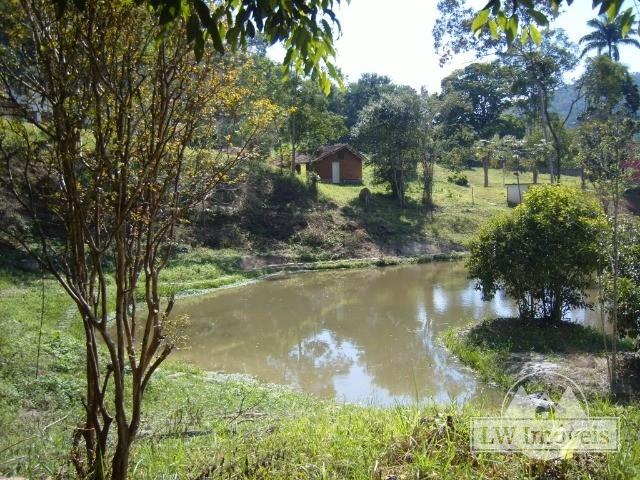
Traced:
<path fill-rule="evenodd" d="M 486 300 L 504 290 L 521 317 L 558 322 L 567 309 L 585 304 L 606 229 L 600 206 L 579 190 L 532 187 L 471 243 L 469 276 Z"/>

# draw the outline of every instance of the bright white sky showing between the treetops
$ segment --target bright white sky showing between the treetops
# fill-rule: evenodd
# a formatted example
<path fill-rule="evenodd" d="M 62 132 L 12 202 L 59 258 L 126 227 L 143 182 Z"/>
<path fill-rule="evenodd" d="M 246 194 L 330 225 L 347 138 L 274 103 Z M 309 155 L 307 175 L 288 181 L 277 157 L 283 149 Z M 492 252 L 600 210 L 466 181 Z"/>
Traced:
<path fill-rule="evenodd" d="M 341 5 L 337 15 L 342 35 L 336 41 L 336 63 L 347 81 L 356 81 L 362 73 L 375 72 L 388 75 L 395 83 L 416 90 L 425 86 L 434 92 L 440 89 L 442 78 L 473 62 L 473 55 L 466 54 L 454 57 L 444 68 L 439 66 L 431 37 L 438 15 L 436 3 L 436 0 L 351 0 L 350 4 Z M 486 0 L 474 3 L 481 8 Z M 576 0 L 553 26 L 563 28 L 577 43 L 590 31 L 587 20 L 595 16 L 591 0 Z M 281 60 L 282 55 L 281 48 L 270 52 L 276 60 Z M 620 56 L 631 71 L 640 71 L 640 50 L 623 47 Z"/>

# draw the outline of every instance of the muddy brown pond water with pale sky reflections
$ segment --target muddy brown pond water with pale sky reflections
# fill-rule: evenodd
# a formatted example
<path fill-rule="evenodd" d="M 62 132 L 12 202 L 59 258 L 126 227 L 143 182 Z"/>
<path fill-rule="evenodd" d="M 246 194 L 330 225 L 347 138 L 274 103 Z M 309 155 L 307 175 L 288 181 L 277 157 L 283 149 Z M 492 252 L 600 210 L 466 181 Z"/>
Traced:
<path fill-rule="evenodd" d="M 344 402 L 497 404 L 502 392 L 438 337 L 515 313 L 501 295 L 482 301 L 460 262 L 300 273 L 181 299 L 174 314 L 189 315 L 188 342 L 174 358 Z"/>

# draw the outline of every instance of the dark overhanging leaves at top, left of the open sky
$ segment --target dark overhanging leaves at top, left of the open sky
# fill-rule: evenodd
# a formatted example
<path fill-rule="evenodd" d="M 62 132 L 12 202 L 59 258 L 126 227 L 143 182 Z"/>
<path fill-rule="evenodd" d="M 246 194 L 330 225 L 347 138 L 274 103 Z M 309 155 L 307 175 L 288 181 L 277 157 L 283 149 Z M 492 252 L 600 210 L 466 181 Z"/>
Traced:
<path fill-rule="evenodd" d="M 316 80 L 325 93 L 331 81 L 340 80 L 333 63 L 335 47 L 332 27 L 340 29 L 334 13 L 341 0 L 142 0 L 129 5 L 150 9 L 158 25 L 180 30 L 202 59 L 210 40 L 220 54 L 260 36 L 269 45 L 283 43 L 286 49 L 284 71 L 304 72 Z M 57 16 L 87 12 L 86 0 L 53 0 Z M 185 25 L 183 28 L 182 25 Z"/>

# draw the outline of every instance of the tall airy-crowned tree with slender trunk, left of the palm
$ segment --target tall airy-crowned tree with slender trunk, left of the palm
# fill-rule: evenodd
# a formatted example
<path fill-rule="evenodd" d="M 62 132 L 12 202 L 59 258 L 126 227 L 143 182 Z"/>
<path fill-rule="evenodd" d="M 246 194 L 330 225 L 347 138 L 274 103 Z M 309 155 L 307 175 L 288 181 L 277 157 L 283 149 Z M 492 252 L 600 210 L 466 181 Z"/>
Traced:
<path fill-rule="evenodd" d="M 544 125 L 551 137 L 555 158 L 550 171 L 552 180 L 559 181 L 562 161 L 568 155 L 562 131 L 580 98 L 571 102 L 565 118 L 557 117 L 549 107 L 554 92 L 563 84 L 564 74 L 577 64 L 577 57 L 560 31 L 546 31 L 546 41 L 542 42 L 538 26 L 548 27 L 549 19 L 557 13 L 554 7 L 562 2 L 510 0 L 509 3 L 508 12 L 501 0 L 492 0 L 477 12 L 465 0 L 440 0 L 440 17 L 433 29 L 434 44 L 441 54 L 441 63 L 448 61 L 452 54 L 474 52 L 478 57 L 497 54 L 512 67 L 516 76 L 513 94 L 522 97 L 518 103 L 527 113 L 528 128 L 533 130 Z M 600 3 L 610 4 L 608 0 Z M 613 17 L 619 13 L 619 5 L 614 7 Z M 626 13 L 622 16 L 627 18 Z M 489 35 L 482 34 L 485 30 Z M 506 42 L 500 38 L 500 32 L 506 34 Z M 518 36 L 520 41 L 514 42 Z"/>

